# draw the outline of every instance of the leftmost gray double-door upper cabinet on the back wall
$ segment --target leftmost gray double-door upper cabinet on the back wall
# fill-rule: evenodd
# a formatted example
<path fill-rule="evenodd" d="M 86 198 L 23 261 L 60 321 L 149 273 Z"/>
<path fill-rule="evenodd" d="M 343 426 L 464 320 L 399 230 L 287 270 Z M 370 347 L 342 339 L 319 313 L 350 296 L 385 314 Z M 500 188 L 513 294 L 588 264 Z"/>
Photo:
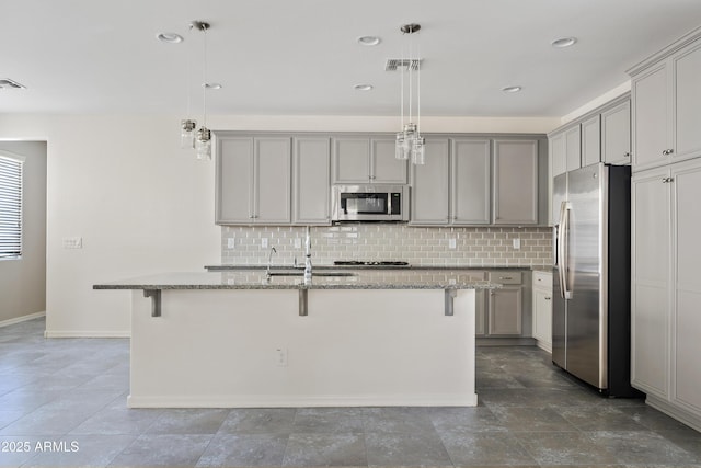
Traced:
<path fill-rule="evenodd" d="M 217 136 L 215 221 L 289 224 L 291 139 Z"/>

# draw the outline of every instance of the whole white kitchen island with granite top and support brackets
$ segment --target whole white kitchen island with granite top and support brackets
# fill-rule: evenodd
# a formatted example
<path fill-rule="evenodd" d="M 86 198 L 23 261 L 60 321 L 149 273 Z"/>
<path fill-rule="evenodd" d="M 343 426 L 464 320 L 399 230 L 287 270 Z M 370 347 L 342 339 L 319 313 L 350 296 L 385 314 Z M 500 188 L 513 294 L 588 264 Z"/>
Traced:
<path fill-rule="evenodd" d="M 130 289 L 134 408 L 476 406 L 466 272 L 173 273 Z"/>

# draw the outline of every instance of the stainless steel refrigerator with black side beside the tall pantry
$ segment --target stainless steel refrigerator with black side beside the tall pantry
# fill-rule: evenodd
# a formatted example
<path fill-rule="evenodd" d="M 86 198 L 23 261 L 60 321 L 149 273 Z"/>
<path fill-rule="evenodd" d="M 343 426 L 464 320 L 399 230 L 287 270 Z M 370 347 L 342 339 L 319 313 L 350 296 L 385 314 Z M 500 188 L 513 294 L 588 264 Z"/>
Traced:
<path fill-rule="evenodd" d="M 612 397 L 630 385 L 630 167 L 553 181 L 552 361 Z"/>

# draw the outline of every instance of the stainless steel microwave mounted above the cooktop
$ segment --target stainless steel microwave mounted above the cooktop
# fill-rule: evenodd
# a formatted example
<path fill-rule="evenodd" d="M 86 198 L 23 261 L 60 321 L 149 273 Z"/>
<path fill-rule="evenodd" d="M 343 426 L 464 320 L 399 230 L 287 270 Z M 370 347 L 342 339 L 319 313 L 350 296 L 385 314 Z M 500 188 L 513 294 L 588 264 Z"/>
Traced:
<path fill-rule="evenodd" d="M 334 221 L 407 221 L 409 185 L 332 186 Z"/>

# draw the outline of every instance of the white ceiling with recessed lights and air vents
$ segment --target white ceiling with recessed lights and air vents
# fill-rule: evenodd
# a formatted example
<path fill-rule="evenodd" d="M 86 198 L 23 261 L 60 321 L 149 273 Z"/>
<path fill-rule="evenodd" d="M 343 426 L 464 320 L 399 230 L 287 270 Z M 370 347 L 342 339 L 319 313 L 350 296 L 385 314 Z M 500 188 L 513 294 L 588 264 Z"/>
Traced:
<path fill-rule="evenodd" d="M 422 114 L 562 116 L 701 25 L 701 0 L 0 0 L 0 113 L 395 115 L 407 44 L 424 58 Z M 156 39 L 176 32 L 181 44 Z M 357 44 L 376 35 L 376 47 Z M 566 49 L 552 39 L 576 36 Z M 369 92 L 354 91 L 370 83 Z M 506 94 L 506 85 L 522 91 Z"/>

